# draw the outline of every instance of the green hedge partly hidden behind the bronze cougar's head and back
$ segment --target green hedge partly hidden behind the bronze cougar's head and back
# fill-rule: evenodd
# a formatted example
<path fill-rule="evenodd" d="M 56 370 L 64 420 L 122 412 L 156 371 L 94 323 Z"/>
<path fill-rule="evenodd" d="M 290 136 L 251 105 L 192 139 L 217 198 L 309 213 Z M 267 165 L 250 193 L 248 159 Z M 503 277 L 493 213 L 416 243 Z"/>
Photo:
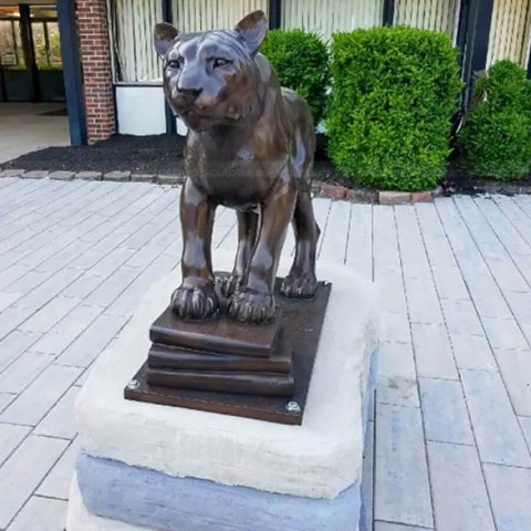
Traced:
<path fill-rule="evenodd" d="M 272 30 L 260 49 L 279 75 L 280 84 L 296 91 L 312 110 L 315 125 L 324 117 L 330 84 L 329 51 L 315 34 Z"/>

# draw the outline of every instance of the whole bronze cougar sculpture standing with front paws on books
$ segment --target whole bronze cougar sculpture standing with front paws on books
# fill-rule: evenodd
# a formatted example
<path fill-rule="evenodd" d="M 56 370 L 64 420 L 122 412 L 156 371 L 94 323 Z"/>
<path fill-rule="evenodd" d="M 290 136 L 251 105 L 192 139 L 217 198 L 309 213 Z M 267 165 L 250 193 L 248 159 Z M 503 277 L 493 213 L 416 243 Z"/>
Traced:
<path fill-rule="evenodd" d="M 179 33 L 167 23 L 155 27 L 166 100 L 189 127 L 180 198 L 183 283 L 171 295 L 181 317 L 204 319 L 219 309 L 210 249 L 218 205 L 238 216 L 235 268 L 218 279 L 232 319 L 260 323 L 273 316 L 273 283 L 290 221 L 296 251 L 281 292 L 310 298 L 317 287 L 312 115 L 303 98 L 281 88 L 258 53 L 266 33 L 262 11 L 233 30 Z"/>

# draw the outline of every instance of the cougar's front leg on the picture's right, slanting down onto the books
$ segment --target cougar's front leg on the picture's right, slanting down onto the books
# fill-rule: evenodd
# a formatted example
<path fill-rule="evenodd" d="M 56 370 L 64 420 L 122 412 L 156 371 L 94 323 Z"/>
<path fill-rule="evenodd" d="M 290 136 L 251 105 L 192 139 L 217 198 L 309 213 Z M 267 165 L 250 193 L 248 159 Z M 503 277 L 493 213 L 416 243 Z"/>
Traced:
<path fill-rule="evenodd" d="M 274 314 L 273 283 L 285 232 L 293 216 L 296 189 L 291 166 L 284 168 L 262 205 L 260 233 L 240 290 L 230 299 L 229 315 L 260 323 Z"/>

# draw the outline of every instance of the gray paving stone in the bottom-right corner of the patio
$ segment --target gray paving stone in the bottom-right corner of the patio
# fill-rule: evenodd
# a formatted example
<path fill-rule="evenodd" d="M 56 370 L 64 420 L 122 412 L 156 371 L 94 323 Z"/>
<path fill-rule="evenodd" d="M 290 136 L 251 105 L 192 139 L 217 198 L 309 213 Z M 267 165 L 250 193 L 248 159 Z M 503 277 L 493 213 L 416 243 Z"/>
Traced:
<path fill-rule="evenodd" d="M 531 529 L 531 470 L 486 465 L 485 477 L 498 531 Z"/>

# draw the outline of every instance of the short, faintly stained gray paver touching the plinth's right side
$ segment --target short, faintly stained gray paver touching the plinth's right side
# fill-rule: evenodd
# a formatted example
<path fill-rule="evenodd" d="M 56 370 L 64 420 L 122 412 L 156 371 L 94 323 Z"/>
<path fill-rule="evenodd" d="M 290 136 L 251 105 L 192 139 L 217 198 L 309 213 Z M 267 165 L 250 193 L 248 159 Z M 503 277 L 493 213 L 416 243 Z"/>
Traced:
<path fill-rule="evenodd" d="M 376 399 L 382 404 L 419 407 L 413 346 L 381 343 Z"/>

